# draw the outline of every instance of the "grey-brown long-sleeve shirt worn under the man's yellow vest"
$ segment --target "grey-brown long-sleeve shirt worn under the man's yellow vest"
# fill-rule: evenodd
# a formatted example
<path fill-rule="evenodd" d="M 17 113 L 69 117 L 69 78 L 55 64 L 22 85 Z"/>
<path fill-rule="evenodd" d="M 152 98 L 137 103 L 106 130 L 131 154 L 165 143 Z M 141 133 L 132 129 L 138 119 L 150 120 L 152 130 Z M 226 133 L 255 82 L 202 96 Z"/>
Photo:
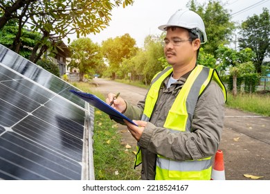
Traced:
<path fill-rule="evenodd" d="M 197 101 L 191 132 L 172 133 L 163 127 L 170 107 L 186 82 L 185 76 L 168 89 L 165 87 L 168 78 L 165 79 L 150 121 L 138 141 L 143 157 L 142 179 L 154 179 L 157 154 L 183 161 L 210 157 L 217 151 L 224 125 L 224 94 L 215 81 L 210 82 Z M 141 120 L 144 105 L 145 100 L 137 106 L 127 102 L 125 115 Z"/>

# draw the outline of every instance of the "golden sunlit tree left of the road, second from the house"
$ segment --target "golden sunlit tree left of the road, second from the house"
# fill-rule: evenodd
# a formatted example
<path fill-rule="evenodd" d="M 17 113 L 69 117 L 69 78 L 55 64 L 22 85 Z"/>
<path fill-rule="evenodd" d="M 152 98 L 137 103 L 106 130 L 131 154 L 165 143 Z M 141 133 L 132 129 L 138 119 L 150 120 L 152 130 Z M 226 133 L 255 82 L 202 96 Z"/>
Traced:
<path fill-rule="evenodd" d="M 109 71 L 111 78 L 116 78 L 116 72 L 120 68 L 120 64 L 124 59 L 131 58 L 136 53 L 136 41 L 129 34 L 109 38 L 102 42 L 102 53 L 109 62 Z"/>

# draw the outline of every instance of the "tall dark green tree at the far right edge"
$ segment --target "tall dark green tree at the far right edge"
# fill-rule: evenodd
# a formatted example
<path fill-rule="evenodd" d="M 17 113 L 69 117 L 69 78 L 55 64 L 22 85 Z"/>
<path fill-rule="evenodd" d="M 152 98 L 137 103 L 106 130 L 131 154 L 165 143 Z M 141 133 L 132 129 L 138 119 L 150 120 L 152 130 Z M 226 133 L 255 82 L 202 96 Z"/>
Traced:
<path fill-rule="evenodd" d="M 262 9 L 260 15 L 248 17 L 241 25 L 239 38 L 240 48 L 251 48 L 256 57 L 254 64 L 256 71 L 262 73 L 262 62 L 270 56 L 270 15 L 267 8 Z"/>

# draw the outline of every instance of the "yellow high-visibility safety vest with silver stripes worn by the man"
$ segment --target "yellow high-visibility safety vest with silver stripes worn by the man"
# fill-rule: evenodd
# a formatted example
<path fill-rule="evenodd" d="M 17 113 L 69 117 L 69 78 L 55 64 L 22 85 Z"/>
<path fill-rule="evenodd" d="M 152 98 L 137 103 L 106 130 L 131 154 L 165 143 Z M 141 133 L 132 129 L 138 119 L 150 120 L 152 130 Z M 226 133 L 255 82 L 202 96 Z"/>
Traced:
<path fill-rule="evenodd" d="M 153 78 L 152 85 L 145 99 L 145 108 L 141 120 L 149 121 L 159 96 L 161 84 L 170 73 L 172 73 L 172 67 L 167 67 L 160 73 L 157 73 Z M 197 65 L 190 73 L 190 76 L 188 76 L 188 79 L 179 91 L 177 98 L 174 100 L 163 127 L 172 130 L 172 132 L 190 132 L 197 99 L 210 84 L 212 79 L 222 88 L 226 102 L 226 88 L 220 80 L 217 71 L 202 65 Z M 141 164 L 141 152 L 138 148 L 135 166 L 138 166 L 139 164 Z M 177 161 L 157 155 L 155 179 L 209 180 L 211 170 L 211 157 L 197 160 Z"/>

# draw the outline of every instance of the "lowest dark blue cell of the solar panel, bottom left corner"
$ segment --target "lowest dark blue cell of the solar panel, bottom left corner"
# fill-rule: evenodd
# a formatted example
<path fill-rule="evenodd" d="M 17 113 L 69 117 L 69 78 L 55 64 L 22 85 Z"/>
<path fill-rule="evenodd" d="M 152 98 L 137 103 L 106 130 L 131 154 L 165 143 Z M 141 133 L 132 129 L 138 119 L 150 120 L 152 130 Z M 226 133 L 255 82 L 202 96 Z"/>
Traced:
<path fill-rule="evenodd" d="M 0 153 L 5 155 L 0 164 L 5 169 L 2 173 L 9 176 L 6 179 L 80 179 L 80 164 L 59 152 L 12 132 L 0 140 Z"/>

